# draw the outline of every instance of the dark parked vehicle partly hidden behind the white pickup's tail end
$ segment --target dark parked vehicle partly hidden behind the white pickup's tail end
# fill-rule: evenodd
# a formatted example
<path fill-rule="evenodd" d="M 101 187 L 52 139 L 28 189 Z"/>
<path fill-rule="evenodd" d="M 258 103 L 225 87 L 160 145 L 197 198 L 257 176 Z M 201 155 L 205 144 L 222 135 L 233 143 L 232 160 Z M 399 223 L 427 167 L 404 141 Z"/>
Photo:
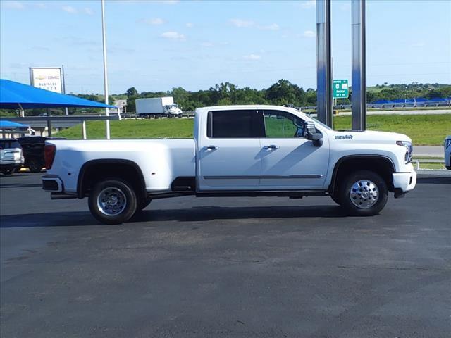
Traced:
<path fill-rule="evenodd" d="M 42 137 L 30 136 L 20 137 L 18 141 L 22 146 L 25 157 L 24 167 L 30 169 L 32 173 L 39 173 L 45 166 L 44 145 L 47 139 L 64 139 L 63 137 Z"/>

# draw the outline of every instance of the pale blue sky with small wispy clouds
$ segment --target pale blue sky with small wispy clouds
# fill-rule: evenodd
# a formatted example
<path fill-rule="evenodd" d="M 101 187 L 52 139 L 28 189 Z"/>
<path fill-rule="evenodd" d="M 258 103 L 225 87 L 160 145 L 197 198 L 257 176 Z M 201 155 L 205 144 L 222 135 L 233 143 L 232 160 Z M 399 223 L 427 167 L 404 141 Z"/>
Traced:
<path fill-rule="evenodd" d="M 101 3 L 5 1 L 0 73 L 66 70 L 67 92 L 103 92 Z M 314 1 L 106 1 L 110 93 L 220 82 L 316 87 Z M 367 1 L 367 83 L 451 84 L 451 1 Z M 351 77 L 350 1 L 332 4 L 334 77 Z"/>

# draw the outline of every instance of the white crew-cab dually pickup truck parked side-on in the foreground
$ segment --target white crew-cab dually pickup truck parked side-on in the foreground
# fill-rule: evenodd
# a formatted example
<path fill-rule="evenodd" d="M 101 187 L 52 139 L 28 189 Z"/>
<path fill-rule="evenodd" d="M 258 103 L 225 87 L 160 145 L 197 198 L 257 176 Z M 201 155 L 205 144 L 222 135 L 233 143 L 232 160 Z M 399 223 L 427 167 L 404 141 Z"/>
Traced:
<path fill-rule="evenodd" d="M 122 223 L 173 196 L 330 196 L 375 215 L 388 192 L 414 189 L 412 142 L 390 132 L 335 131 L 293 108 L 198 108 L 194 139 L 47 141 L 43 189 L 88 197 L 102 223 Z"/>

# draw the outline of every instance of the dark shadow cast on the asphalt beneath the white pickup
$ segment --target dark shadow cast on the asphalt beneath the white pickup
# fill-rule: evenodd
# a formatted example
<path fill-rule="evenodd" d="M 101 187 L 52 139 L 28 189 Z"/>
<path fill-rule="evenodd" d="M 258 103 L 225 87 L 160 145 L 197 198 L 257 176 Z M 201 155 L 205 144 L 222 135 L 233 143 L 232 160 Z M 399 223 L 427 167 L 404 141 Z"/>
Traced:
<path fill-rule="evenodd" d="M 340 206 L 277 206 L 277 207 L 222 207 L 197 206 L 180 209 L 149 208 L 135 215 L 128 223 L 147 222 L 207 222 L 213 220 L 269 219 L 269 218 L 343 218 Z M 124 223 L 126 225 L 127 223 Z M 0 227 L 73 227 L 102 225 L 89 211 L 66 213 L 32 213 L 1 215 Z M 110 225 L 104 225 L 106 227 Z"/>

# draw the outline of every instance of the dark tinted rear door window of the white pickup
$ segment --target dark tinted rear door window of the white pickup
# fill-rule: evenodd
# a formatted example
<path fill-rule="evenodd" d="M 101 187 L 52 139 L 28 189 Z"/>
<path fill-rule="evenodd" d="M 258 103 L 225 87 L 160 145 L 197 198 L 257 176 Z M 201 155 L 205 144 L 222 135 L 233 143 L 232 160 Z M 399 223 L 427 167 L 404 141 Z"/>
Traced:
<path fill-rule="evenodd" d="M 211 111 L 206 134 L 217 139 L 263 137 L 262 114 L 259 111 Z"/>

